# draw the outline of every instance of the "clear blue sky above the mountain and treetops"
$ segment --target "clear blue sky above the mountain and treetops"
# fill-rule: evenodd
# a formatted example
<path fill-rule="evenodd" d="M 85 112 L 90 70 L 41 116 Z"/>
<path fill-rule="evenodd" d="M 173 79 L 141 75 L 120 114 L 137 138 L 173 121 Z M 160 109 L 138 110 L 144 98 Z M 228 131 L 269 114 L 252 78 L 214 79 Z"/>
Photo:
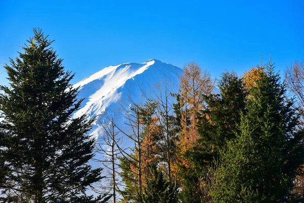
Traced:
<path fill-rule="evenodd" d="M 242 74 L 272 59 L 278 70 L 304 59 L 304 1 L 0 0 L 0 84 L 4 63 L 40 27 L 74 82 L 108 65 L 156 58 L 198 62 L 212 77 Z M 17 46 L 16 46 L 17 45 Z M 282 71 L 281 71 L 282 73 Z"/>

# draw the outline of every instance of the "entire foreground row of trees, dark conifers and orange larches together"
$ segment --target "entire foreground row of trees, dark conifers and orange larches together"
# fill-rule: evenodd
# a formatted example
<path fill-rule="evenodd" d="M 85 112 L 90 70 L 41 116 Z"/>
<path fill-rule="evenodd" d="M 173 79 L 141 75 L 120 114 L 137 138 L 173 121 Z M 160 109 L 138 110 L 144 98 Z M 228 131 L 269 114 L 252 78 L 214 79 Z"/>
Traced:
<path fill-rule="evenodd" d="M 34 29 L 24 53 L 5 66 L 0 201 L 304 200 L 303 62 L 287 67 L 284 80 L 272 61 L 219 80 L 187 63 L 178 92 L 157 84 L 146 103 L 122 105 L 124 127 L 100 121 L 94 140 L 93 121 L 72 118 L 82 100 L 51 43 Z M 89 188 L 99 195 L 87 195 Z"/>

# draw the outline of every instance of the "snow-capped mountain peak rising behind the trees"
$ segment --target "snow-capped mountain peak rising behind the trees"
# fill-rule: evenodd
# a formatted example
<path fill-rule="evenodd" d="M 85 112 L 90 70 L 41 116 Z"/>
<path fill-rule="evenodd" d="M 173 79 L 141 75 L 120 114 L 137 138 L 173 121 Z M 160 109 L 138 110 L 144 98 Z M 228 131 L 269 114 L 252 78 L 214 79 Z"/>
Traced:
<path fill-rule="evenodd" d="M 106 115 L 122 125 L 121 105 L 143 104 L 146 98 L 155 97 L 156 83 L 166 82 L 172 92 L 177 92 L 181 74 L 179 67 L 156 59 L 105 67 L 74 85 L 80 87 L 78 98 L 85 100 L 73 116 L 87 114 L 88 118 L 96 117 L 90 134 L 97 137 L 101 130 L 99 121 L 103 121 Z"/>

